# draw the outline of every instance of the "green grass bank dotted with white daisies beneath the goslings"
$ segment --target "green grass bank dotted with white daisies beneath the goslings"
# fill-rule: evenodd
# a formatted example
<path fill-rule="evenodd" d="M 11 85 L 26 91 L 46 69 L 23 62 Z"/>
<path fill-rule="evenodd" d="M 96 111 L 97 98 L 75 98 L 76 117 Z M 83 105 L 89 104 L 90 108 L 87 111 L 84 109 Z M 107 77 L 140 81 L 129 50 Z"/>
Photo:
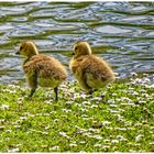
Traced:
<path fill-rule="evenodd" d="M 154 152 L 154 85 L 143 77 L 92 96 L 74 82 L 0 86 L 0 152 Z"/>

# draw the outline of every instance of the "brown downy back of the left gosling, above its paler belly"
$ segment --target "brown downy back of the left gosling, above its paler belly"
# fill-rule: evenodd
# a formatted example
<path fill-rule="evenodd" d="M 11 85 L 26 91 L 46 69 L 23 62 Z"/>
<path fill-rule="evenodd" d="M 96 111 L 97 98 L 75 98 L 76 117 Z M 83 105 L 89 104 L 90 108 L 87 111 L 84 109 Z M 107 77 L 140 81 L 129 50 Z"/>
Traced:
<path fill-rule="evenodd" d="M 37 77 L 43 78 L 66 78 L 64 66 L 53 57 L 46 55 L 33 56 L 25 65 L 25 72 L 37 73 Z"/>

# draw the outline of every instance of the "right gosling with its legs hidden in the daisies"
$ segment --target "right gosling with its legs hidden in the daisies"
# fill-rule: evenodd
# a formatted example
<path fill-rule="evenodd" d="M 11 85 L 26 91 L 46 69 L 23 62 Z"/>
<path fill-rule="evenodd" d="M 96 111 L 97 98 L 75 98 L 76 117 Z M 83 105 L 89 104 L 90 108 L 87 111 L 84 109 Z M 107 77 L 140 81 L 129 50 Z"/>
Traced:
<path fill-rule="evenodd" d="M 116 80 L 111 67 L 105 59 L 91 54 L 90 45 L 87 42 L 77 42 L 74 45 L 73 55 L 69 68 L 87 94 L 90 95 Z"/>

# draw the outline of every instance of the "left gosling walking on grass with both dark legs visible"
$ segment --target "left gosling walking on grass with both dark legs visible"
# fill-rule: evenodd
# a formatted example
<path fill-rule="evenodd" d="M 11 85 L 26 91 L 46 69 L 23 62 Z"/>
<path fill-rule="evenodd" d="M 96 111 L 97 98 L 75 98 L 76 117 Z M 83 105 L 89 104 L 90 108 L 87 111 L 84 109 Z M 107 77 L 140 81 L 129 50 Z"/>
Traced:
<path fill-rule="evenodd" d="M 66 79 L 65 67 L 54 57 L 38 54 L 35 44 L 25 41 L 21 44 L 16 54 L 26 57 L 22 68 L 31 88 L 29 97 L 32 97 L 37 86 L 52 87 L 55 92 L 55 101 L 58 100 L 58 86 Z"/>

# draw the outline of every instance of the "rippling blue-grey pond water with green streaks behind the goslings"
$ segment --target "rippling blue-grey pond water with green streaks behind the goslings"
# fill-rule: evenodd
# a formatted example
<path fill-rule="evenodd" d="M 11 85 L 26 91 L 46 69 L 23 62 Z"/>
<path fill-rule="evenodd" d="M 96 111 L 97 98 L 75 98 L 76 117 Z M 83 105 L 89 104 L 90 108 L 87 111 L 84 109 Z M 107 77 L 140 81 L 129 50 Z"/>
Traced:
<path fill-rule="evenodd" d="M 120 78 L 152 74 L 154 3 L 0 2 L 0 82 L 24 78 L 22 58 L 14 54 L 23 40 L 33 40 L 41 53 L 58 58 L 67 69 L 74 43 L 84 40 Z"/>

